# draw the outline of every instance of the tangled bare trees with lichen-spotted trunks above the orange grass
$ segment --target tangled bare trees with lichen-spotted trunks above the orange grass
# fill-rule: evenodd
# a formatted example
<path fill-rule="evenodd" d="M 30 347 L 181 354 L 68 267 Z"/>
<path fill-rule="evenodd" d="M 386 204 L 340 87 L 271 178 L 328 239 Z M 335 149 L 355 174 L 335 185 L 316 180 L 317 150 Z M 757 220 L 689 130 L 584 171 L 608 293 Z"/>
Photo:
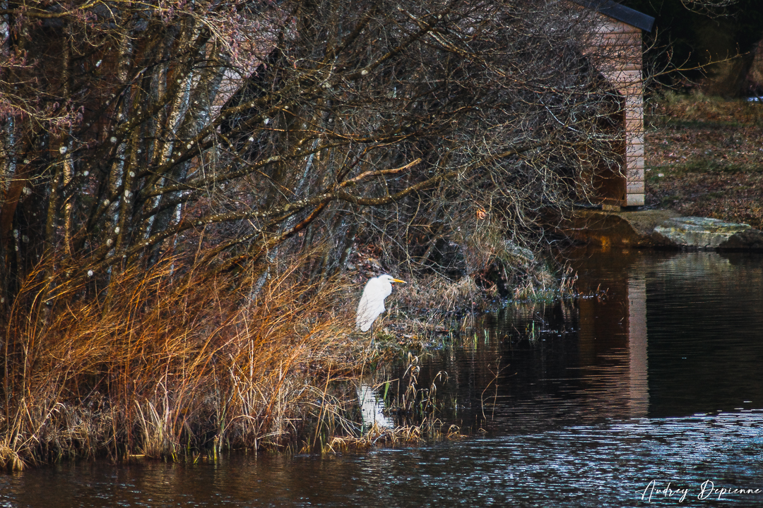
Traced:
<path fill-rule="evenodd" d="M 616 165 L 617 92 L 568 2 L 18 2 L 0 8 L 9 305 L 171 252 L 261 280 L 358 242 L 410 270 L 537 246 Z M 588 175 L 588 176 L 587 176 Z M 179 270 L 181 273 L 182 270 Z"/>

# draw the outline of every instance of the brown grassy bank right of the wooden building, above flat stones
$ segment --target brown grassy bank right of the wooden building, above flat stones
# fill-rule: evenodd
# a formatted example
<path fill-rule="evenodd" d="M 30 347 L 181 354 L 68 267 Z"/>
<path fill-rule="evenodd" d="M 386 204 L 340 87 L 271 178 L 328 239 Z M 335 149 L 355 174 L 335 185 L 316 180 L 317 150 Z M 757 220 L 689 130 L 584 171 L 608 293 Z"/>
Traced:
<path fill-rule="evenodd" d="M 763 228 L 763 104 L 659 97 L 646 117 L 647 206 Z"/>

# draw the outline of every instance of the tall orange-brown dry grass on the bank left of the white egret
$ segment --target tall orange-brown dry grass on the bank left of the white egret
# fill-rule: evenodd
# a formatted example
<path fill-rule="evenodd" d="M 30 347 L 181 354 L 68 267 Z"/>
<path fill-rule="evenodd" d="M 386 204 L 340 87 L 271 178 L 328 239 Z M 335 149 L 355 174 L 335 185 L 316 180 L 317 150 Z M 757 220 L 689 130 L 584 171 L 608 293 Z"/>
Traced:
<path fill-rule="evenodd" d="M 169 259 L 102 289 L 31 278 L 2 344 L 0 465 L 178 458 L 341 432 L 352 393 L 342 381 L 366 344 L 348 334 L 347 289 L 300 286 L 295 270 L 254 301 L 224 276 L 179 277 Z"/>

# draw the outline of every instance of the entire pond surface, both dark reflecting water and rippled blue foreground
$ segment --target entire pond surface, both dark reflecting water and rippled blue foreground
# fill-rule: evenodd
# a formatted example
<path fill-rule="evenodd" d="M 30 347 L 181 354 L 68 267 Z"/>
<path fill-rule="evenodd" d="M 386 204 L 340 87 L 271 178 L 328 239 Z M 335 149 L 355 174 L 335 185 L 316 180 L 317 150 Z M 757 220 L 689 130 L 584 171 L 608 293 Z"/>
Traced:
<path fill-rule="evenodd" d="M 576 266 L 597 297 L 489 316 L 464 347 L 422 358 L 421 385 L 448 372 L 438 397 L 475 437 L 62 465 L 0 476 L 0 507 L 763 506 L 763 257 L 631 251 Z"/>

